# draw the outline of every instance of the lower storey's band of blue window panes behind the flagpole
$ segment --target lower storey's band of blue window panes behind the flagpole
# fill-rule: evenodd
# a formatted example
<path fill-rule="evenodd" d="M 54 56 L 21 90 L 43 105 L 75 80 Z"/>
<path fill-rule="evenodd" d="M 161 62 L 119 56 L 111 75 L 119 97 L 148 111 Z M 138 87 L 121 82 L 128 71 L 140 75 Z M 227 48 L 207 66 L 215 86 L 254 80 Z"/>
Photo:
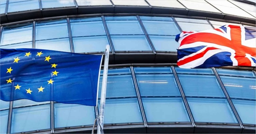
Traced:
<path fill-rule="evenodd" d="M 255 73 L 227 69 L 217 69 L 217 72 L 243 125 L 255 124 Z M 174 77 L 175 73 L 178 80 Z M 99 87 L 102 86 L 102 74 L 103 71 Z M 182 89 L 179 89 L 178 82 Z M 238 124 L 220 84 L 212 69 L 109 69 L 104 124 L 143 124 L 143 115 L 146 123 L 191 123 L 184 101 L 187 101 L 196 123 Z M 182 99 L 180 90 L 183 90 L 185 100 Z M 100 94 L 101 90 L 98 103 Z M 95 109 L 92 106 L 16 100 L 9 109 L 9 104 L 10 102 L 0 101 L 1 133 L 7 132 L 9 117 L 10 133 L 91 127 L 95 119 Z M 51 118 L 54 128 L 51 128 Z"/>

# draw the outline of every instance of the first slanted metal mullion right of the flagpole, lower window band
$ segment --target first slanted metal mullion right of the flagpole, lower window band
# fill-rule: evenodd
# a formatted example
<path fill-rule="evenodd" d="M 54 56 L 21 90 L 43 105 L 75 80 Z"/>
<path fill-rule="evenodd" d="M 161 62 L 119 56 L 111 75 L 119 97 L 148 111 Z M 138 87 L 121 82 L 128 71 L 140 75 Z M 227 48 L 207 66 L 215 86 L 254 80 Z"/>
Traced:
<path fill-rule="evenodd" d="M 143 119 L 145 127 L 148 127 L 144 107 L 143 107 L 140 92 L 139 92 L 138 83 L 136 81 L 136 76 L 135 76 L 135 73 L 134 73 L 134 70 L 133 70 L 132 66 L 130 66 L 130 69 L 131 69 L 132 78 L 133 78 L 133 81 L 134 81 L 134 84 L 135 84 L 135 90 L 136 90 L 136 94 L 137 94 L 137 97 L 138 97 L 138 101 L 139 101 L 139 105 L 140 105 L 140 109 L 141 109 L 141 113 L 142 113 L 142 119 Z"/>

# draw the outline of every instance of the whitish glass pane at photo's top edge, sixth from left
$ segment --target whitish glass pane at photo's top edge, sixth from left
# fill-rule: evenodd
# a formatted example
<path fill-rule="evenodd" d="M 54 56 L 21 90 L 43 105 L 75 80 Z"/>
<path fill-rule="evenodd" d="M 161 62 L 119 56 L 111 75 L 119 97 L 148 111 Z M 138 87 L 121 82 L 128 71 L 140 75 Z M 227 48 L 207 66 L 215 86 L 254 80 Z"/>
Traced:
<path fill-rule="evenodd" d="M 151 6 L 156 7 L 172 7 L 172 8 L 185 8 L 176 0 L 147 0 Z"/>

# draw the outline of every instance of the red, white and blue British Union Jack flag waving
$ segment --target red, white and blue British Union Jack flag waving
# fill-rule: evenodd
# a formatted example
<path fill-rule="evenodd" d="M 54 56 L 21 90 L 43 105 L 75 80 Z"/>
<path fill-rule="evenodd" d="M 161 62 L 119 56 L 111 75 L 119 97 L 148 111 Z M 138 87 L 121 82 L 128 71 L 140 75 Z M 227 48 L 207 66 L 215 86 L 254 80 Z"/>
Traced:
<path fill-rule="evenodd" d="M 180 68 L 256 65 L 255 27 L 225 25 L 176 36 Z"/>

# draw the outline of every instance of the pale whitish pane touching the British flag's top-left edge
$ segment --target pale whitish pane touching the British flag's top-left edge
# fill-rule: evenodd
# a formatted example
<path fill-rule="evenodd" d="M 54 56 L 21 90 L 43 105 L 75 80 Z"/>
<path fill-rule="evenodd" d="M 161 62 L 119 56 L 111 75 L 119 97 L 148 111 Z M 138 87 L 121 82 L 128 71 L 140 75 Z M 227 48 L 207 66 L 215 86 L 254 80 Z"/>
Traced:
<path fill-rule="evenodd" d="M 210 24 L 200 24 L 200 23 L 189 23 L 189 22 L 177 22 L 182 31 L 203 31 L 213 29 Z"/>

